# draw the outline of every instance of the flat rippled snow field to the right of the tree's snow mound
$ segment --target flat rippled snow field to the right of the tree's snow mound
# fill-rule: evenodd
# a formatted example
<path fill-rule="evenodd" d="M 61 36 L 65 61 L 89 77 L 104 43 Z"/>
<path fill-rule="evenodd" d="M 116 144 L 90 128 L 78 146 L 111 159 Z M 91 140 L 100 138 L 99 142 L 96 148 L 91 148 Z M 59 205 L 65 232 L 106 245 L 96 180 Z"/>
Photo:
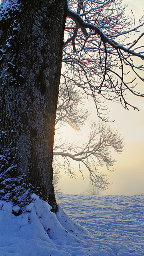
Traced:
<path fill-rule="evenodd" d="M 57 200 L 93 232 L 97 246 L 106 247 L 103 255 L 144 255 L 144 196 L 60 195 Z"/>

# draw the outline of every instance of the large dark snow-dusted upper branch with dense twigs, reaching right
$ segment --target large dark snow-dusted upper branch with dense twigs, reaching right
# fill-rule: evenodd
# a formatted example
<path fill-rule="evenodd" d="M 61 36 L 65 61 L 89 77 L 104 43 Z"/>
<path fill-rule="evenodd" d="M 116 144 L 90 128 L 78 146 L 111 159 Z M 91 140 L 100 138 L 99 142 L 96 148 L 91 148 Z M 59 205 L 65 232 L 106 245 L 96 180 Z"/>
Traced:
<path fill-rule="evenodd" d="M 94 99 L 97 114 L 104 121 L 108 121 L 107 100 L 120 102 L 128 110 L 129 106 L 136 106 L 126 100 L 126 91 L 144 96 L 136 92 L 133 77 L 144 81 L 144 65 L 136 67 L 132 59 L 136 56 L 141 62 L 144 60 L 144 46 L 138 45 L 144 33 L 131 43 L 129 39 L 132 32 L 139 32 L 144 25 L 144 16 L 133 26 L 121 3 L 122 0 L 73 0 L 67 12 L 63 76 L 66 83 L 82 88 Z M 85 28 L 84 33 L 80 29 L 75 33 L 75 22 L 79 28 Z M 125 71 L 128 67 L 132 75 Z"/>

